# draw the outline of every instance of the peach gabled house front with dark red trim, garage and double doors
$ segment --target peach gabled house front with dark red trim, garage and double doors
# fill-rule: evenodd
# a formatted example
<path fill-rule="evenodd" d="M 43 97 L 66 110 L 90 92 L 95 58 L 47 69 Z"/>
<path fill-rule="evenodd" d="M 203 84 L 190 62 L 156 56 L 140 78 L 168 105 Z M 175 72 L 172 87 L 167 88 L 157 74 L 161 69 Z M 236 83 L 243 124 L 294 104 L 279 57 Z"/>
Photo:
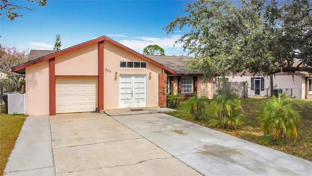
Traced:
<path fill-rule="evenodd" d="M 178 75 L 106 36 L 40 52 L 12 67 L 26 75 L 29 115 L 166 107 L 167 75 Z"/>

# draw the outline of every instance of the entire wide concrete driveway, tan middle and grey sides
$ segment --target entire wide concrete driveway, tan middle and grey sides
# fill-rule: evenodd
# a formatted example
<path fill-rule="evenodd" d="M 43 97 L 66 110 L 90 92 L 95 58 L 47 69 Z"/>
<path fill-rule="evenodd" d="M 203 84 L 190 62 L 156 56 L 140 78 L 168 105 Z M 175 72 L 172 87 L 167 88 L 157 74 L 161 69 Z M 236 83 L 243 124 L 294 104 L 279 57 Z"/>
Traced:
<path fill-rule="evenodd" d="M 312 175 L 311 161 L 170 115 L 114 113 L 27 117 L 5 176 Z"/>

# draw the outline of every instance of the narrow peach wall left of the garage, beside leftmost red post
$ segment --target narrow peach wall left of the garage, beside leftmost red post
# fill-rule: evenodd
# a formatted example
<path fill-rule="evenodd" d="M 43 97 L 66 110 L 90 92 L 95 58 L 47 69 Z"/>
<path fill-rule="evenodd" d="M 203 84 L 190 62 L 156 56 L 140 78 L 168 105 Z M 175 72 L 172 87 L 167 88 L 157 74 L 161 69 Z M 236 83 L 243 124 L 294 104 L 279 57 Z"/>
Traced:
<path fill-rule="evenodd" d="M 26 68 L 26 114 L 49 114 L 49 61 Z"/>

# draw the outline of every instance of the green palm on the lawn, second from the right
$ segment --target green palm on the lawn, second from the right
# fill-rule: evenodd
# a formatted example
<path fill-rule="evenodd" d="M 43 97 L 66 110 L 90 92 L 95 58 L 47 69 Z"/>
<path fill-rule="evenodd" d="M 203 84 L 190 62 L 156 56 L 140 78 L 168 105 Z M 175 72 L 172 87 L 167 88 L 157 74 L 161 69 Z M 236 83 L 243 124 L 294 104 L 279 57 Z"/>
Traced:
<path fill-rule="evenodd" d="M 236 129 L 242 123 L 240 116 L 243 112 L 241 101 L 237 94 L 231 93 L 230 90 L 220 88 L 216 94 L 209 109 L 218 119 L 212 119 L 210 124 L 213 126 L 221 125 L 225 129 Z"/>

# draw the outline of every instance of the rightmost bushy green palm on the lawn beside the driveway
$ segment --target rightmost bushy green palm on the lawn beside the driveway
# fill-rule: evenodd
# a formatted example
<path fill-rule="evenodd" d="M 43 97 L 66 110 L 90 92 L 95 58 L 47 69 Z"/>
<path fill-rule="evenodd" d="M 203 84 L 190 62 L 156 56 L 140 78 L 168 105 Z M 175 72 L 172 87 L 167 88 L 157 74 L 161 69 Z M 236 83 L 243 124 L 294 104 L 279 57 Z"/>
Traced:
<path fill-rule="evenodd" d="M 268 99 L 260 110 L 259 121 L 264 134 L 271 135 L 274 141 L 282 137 L 287 140 L 288 136 L 297 138 L 300 115 L 293 110 L 294 106 L 299 107 L 287 94 Z"/>

